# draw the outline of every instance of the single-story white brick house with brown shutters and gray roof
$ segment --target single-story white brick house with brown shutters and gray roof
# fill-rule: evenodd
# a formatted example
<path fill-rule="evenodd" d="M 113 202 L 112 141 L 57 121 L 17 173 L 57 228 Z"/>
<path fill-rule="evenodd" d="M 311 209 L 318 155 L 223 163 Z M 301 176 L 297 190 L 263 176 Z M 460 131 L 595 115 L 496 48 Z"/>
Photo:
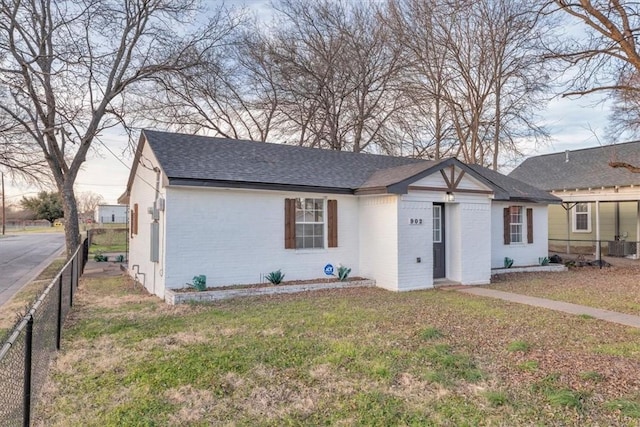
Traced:
<path fill-rule="evenodd" d="M 457 159 L 418 159 L 143 131 L 127 190 L 129 272 L 152 293 L 352 269 L 394 291 L 485 284 L 504 257 L 547 254 L 559 202 Z M 506 221 L 506 222 L 505 222 Z"/>

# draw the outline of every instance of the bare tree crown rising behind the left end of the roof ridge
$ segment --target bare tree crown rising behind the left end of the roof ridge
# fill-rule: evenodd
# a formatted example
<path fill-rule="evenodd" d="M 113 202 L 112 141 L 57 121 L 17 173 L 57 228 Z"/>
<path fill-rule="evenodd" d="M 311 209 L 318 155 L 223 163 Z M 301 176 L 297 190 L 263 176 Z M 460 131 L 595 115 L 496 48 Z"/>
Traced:
<path fill-rule="evenodd" d="M 157 79 L 138 110 L 164 127 L 265 141 L 277 114 L 265 42 L 242 13 L 217 18 L 216 48 L 197 67 Z"/>

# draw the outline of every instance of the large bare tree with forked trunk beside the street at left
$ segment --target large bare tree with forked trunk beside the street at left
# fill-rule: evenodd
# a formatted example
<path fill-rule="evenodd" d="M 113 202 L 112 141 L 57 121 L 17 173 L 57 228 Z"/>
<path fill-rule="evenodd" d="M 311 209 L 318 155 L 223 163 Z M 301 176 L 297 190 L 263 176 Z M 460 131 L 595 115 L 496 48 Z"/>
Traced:
<path fill-rule="evenodd" d="M 62 195 L 67 252 L 80 242 L 73 185 L 97 135 L 126 123 L 146 81 L 202 61 L 219 28 L 195 0 L 0 0 L 2 116 L 37 147 Z"/>

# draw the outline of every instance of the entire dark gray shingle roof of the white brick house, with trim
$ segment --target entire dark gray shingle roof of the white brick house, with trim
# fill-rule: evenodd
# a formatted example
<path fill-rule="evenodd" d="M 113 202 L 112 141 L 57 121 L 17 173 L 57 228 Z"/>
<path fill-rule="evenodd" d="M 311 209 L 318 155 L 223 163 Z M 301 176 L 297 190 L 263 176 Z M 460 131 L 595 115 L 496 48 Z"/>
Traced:
<path fill-rule="evenodd" d="M 145 141 L 169 185 L 404 194 L 412 182 L 455 165 L 490 187 L 495 199 L 560 202 L 529 185 L 454 158 L 428 161 L 150 130 L 140 137 L 125 194 L 131 189 Z"/>

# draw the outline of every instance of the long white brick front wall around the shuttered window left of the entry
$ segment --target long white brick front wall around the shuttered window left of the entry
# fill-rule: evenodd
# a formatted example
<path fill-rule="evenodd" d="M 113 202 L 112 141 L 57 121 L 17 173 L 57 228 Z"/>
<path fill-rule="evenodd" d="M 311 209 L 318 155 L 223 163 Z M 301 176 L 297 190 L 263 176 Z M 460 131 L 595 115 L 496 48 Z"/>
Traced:
<path fill-rule="evenodd" d="M 338 201 L 337 248 L 284 248 L 284 200 L 295 197 Z M 361 275 L 353 196 L 168 187 L 166 214 L 169 288 L 183 287 L 200 274 L 208 286 L 259 283 L 261 275 L 278 269 L 285 280 L 322 278 L 328 263 L 336 272 L 342 264 L 352 269 L 351 276 Z"/>

